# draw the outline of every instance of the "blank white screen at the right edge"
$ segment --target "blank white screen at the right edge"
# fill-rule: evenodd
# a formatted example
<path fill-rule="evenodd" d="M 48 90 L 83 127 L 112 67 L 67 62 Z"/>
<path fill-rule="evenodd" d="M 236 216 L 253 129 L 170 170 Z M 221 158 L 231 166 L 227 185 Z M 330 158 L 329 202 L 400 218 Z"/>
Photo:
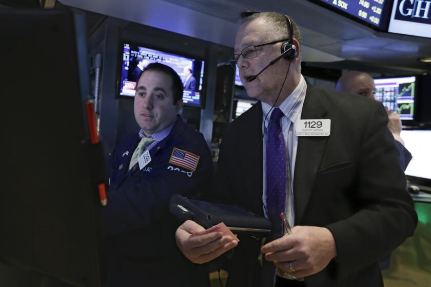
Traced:
<path fill-rule="evenodd" d="M 401 137 L 405 147 L 412 153 L 412 160 L 405 170 L 405 174 L 420 178 L 431 179 L 431 131 L 403 130 Z"/>

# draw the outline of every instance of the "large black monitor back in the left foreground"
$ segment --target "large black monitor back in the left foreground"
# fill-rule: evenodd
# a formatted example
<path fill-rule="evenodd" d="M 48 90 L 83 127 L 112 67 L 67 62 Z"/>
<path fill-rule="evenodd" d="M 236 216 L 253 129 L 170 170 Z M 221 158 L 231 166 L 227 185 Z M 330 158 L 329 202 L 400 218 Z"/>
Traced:
<path fill-rule="evenodd" d="M 101 286 L 102 182 L 93 172 L 107 178 L 102 150 L 88 144 L 84 15 L 4 9 L 0 34 L 0 261 L 48 278 L 37 286 Z M 0 286 L 11 286 L 6 277 Z"/>

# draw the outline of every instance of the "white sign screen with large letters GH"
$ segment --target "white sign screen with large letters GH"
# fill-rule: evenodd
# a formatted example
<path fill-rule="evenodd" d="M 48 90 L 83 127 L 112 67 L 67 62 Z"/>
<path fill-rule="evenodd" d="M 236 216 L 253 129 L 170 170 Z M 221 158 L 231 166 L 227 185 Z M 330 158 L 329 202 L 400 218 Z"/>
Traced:
<path fill-rule="evenodd" d="M 431 38 L 431 2 L 394 0 L 388 32 Z"/>

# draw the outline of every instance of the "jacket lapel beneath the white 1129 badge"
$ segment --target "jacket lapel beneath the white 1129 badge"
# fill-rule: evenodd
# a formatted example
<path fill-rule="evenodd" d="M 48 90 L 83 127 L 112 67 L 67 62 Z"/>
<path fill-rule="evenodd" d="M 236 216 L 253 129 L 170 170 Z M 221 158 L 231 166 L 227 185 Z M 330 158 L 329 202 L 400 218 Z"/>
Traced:
<path fill-rule="evenodd" d="M 324 118 L 325 115 L 326 109 L 321 104 L 319 91 L 307 84 L 301 119 L 318 119 Z M 301 136 L 298 138 L 297 160 L 293 176 L 296 224 L 301 224 L 301 218 L 314 186 L 327 138 L 326 136 Z"/>

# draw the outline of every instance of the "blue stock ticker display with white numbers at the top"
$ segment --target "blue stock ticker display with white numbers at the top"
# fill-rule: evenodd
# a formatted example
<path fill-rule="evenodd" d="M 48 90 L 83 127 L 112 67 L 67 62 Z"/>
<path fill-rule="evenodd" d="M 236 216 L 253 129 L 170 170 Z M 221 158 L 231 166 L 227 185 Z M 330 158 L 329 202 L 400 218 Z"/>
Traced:
<path fill-rule="evenodd" d="M 350 14 L 381 30 L 386 29 L 389 2 L 388 0 L 317 0 L 317 3 L 325 3 L 324 5 L 332 9 Z"/>

